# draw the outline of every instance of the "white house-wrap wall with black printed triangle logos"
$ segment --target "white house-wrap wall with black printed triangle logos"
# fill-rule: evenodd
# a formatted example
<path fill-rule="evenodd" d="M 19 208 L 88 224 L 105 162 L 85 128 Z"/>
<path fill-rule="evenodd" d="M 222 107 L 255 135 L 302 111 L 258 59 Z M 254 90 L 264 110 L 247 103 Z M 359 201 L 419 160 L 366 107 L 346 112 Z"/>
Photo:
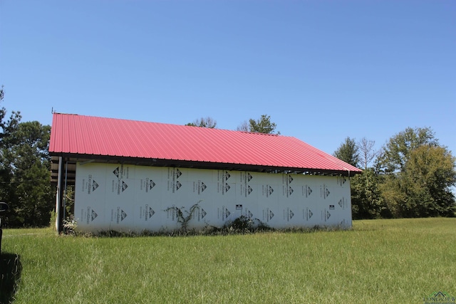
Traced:
<path fill-rule="evenodd" d="M 276 229 L 351 227 L 348 177 L 76 164 L 78 231 L 172 231 L 180 224 L 170 207 L 185 214 L 197 203 L 190 229 L 242 215 Z"/>

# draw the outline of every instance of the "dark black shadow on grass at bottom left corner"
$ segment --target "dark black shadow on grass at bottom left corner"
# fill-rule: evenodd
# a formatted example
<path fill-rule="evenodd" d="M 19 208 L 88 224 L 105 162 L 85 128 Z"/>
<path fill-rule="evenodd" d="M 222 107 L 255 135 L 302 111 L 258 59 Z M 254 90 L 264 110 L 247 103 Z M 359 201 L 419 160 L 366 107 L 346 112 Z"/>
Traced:
<path fill-rule="evenodd" d="M 0 255 L 0 303 L 8 304 L 14 301 L 19 280 L 21 279 L 21 256 L 13 253 Z"/>

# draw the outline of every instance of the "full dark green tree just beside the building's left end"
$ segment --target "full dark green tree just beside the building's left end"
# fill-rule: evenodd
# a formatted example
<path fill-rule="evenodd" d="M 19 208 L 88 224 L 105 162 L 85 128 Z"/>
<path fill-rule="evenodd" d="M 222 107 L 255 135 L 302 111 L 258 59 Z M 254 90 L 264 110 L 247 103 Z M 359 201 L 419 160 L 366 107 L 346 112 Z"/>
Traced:
<path fill-rule="evenodd" d="M 20 122 L 9 135 L 12 143 L 2 150 L 9 168 L 7 226 L 47 226 L 53 199 L 48 143 L 51 127 L 39 122 Z"/>

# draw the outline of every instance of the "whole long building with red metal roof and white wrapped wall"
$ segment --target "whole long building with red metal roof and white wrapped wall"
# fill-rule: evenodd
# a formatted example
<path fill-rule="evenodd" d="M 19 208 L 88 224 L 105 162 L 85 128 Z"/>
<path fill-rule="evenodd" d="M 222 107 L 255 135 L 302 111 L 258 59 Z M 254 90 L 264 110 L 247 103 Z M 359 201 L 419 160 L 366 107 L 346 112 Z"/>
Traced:
<path fill-rule="evenodd" d="M 350 180 L 361 170 L 294 137 L 55 113 L 49 153 L 75 186 L 81 231 L 172 231 L 239 216 L 273 228 L 351 227 Z M 177 208 L 176 208 L 177 207 Z"/>

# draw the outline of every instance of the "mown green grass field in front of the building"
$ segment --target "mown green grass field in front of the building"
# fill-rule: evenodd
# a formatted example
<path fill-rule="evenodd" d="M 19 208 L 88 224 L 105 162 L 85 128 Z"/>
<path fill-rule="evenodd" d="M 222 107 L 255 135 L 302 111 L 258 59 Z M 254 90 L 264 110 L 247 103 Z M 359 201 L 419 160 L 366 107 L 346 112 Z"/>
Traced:
<path fill-rule="evenodd" d="M 0 299 L 14 303 L 423 303 L 439 290 L 456 295 L 456 219 L 231 236 L 6 229 L 2 249 Z"/>

